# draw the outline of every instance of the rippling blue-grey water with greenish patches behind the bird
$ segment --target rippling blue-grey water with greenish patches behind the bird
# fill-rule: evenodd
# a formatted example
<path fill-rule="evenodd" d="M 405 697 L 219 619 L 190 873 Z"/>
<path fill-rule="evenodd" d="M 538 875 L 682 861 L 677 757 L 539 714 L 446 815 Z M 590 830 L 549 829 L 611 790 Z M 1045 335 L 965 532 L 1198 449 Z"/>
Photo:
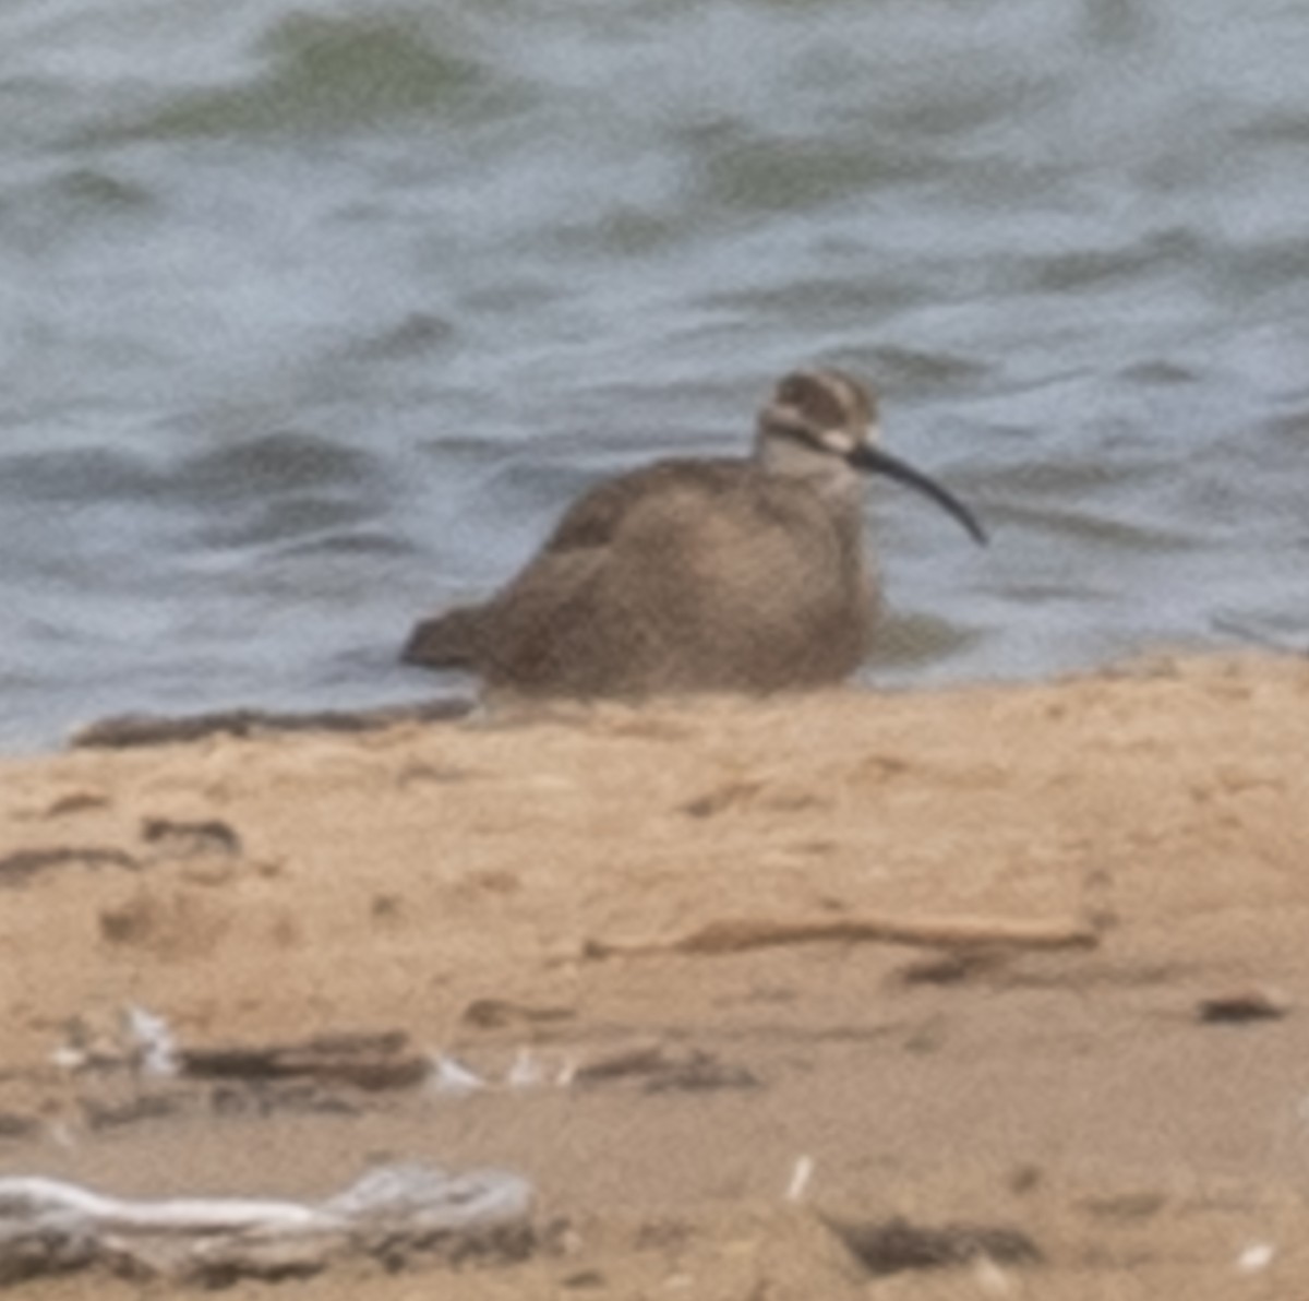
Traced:
<path fill-rule="evenodd" d="M 9 0 L 0 744 L 361 705 L 597 476 L 842 364 L 868 679 L 1309 646 L 1309 8 Z"/>

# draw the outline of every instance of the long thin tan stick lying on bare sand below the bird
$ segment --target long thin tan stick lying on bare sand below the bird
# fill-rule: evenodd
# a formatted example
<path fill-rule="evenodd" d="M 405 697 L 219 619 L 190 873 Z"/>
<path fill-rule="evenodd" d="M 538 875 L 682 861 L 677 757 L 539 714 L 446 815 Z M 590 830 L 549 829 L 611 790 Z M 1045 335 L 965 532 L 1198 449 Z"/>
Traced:
<path fill-rule="evenodd" d="M 876 941 L 925 949 L 1094 949 L 1100 933 L 1085 922 L 997 921 L 982 917 L 825 917 L 776 921 L 764 917 L 711 921 L 668 939 L 589 939 L 586 958 L 640 954 L 716 955 L 776 945 Z"/>

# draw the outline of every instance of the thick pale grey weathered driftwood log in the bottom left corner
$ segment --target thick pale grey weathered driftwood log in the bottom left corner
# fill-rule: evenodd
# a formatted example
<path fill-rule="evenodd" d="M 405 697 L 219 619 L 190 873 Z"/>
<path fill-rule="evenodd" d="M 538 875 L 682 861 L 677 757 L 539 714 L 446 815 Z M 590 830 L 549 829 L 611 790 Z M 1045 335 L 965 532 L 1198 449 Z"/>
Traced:
<path fill-rule="evenodd" d="M 520 1175 L 381 1166 L 326 1201 L 181 1197 L 130 1201 L 43 1178 L 0 1179 L 0 1285 L 93 1266 L 221 1285 L 317 1273 L 365 1255 L 518 1259 L 531 1249 L 531 1187 Z"/>

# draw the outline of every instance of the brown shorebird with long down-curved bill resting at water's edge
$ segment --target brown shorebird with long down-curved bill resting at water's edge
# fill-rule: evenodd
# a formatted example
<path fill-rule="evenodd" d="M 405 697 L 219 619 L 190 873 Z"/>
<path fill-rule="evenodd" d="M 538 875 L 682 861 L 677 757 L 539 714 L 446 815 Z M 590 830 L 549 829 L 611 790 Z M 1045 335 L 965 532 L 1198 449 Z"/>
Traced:
<path fill-rule="evenodd" d="M 861 472 L 916 489 L 986 541 L 967 507 L 878 436 L 876 398 L 857 380 L 787 375 L 751 456 L 656 461 L 597 485 L 517 578 L 418 624 L 402 658 L 529 696 L 839 683 L 877 622 Z"/>

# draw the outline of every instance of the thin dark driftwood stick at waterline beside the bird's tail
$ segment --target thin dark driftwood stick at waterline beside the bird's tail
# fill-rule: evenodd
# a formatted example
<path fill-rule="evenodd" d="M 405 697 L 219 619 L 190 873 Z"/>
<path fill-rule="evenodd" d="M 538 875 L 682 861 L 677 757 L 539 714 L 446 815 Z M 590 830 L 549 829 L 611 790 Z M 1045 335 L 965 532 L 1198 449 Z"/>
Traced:
<path fill-rule="evenodd" d="M 206 736 L 254 736 L 264 732 L 370 732 L 395 723 L 449 722 L 473 713 L 470 700 L 433 700 L 416 705 L 380 709 L 325 709 L 279 713 L 267 709 L 225 709 L 212 714 L 119 714 L 77 728 L 68 743 L 75 747 L 127 749 L 134 745 L 166 745 L 203 740 Z"/>

